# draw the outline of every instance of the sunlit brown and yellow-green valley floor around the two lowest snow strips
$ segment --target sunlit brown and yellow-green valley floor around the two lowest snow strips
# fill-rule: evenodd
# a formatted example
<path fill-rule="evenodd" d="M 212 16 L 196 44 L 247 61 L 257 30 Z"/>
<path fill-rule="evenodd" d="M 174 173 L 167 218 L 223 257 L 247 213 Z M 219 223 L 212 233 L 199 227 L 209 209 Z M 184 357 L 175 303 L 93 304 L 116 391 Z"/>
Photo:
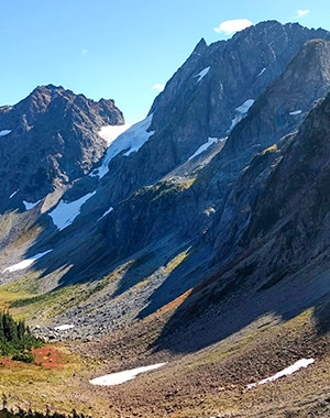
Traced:
<path fill-rule="evenodd" d="M 165 322 L 164 316 L 154 315 L 102 340 L 51 345 L 62 355 L 57 365 L 50 365 L 55 358 L 51 349 L 44 365 L 18 370 L 2 362 L 0 388 L 9 406 L 45 410 L 47 405 L 67 414 L 75 408 L 95 418 L 330 416 L 330 336 L 318 332 L 312 309 L 286 322 L 272 315 L 260 318 L 221 342 L 186 354 L 154 348 Z M 302 358 L 315 363 L 248 389 Z M 89 383 L 161 362 L 167 364 L 122 385 Z"/>

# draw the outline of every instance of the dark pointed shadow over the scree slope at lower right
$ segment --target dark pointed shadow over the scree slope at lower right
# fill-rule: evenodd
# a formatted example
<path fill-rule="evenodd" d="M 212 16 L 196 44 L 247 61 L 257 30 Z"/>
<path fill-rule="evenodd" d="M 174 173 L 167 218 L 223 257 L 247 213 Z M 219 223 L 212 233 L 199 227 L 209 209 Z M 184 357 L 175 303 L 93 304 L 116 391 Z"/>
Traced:
<path fill-rule="evenodd" d="M 318 273 L 315 266 L 305 267 L 276 284 L 270 277 L 261 279 L 254 274 L 255 263 L 255 258 L 246 258 L 198 285 L 175 310 L 154 349 L 196 352 L 243 330 L 258 318 L 270 317 L 266 321 L 275 323 L 309 308 L 314 308 L 319 334 L 330 331 L 329 261 Z M 262 261 L 257 263 L 261 268 Z"/>

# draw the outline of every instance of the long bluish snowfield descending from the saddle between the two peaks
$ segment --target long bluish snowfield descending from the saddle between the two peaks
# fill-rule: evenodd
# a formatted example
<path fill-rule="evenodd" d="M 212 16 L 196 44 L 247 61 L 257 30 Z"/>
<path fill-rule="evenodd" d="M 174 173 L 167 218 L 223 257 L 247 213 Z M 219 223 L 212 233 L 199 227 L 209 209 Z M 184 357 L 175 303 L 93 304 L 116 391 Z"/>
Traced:
<path fill-rule="evenodd" d="M 150 136 L 154 134 L 154 131 L 146 132 L 151 125 L 152 117 L 153 116 L 150 114 L 141 122 L 133 124 L 127 131 L 118 134 L 118 136 L 112 136 L 111 143 L 103 157 L 102 165 L 99 168 L 95 169 L 90 175 L 99 176 L 99 178 L 102 178 L 109 172 L 109 163 L 112 158 L 116 157 L 116 155 L 125 150 L 127 152 L 123 154 L 124 156 L 139 151 L 141 146 L 150 139 Z M 105 129 L 106 128 L 102 128 L 102 130 Z M 105 132 L 106 130 L 102 134 L 105 134 Z"/>

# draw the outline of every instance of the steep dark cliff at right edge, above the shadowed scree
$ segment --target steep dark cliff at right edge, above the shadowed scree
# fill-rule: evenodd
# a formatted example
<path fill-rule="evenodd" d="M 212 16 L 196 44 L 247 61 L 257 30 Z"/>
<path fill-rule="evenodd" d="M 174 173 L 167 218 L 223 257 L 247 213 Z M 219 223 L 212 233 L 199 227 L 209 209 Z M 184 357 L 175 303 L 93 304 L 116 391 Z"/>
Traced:
<path fill-rule="evenodd" d="M 258 196 L 243 242 L 274 238 L 270 273 L 298 270 L 329 249 L 330 96 L 309 113 Z"/>

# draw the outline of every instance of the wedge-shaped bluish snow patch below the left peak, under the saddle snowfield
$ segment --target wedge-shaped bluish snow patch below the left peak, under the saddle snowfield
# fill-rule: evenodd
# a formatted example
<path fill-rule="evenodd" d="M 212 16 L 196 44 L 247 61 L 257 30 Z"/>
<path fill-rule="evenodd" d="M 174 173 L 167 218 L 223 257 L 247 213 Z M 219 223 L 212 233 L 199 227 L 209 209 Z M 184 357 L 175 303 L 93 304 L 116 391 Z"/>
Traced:
<path fill-rule="evenodd" d="M 62 231 L 70 226 L 80 213 L 82 205 L 95 194 L 96 191 L 89 193 L 74 201 L 61 200 L 56 208 L 48 213 L 52 217 L 55 227 Z"/>

